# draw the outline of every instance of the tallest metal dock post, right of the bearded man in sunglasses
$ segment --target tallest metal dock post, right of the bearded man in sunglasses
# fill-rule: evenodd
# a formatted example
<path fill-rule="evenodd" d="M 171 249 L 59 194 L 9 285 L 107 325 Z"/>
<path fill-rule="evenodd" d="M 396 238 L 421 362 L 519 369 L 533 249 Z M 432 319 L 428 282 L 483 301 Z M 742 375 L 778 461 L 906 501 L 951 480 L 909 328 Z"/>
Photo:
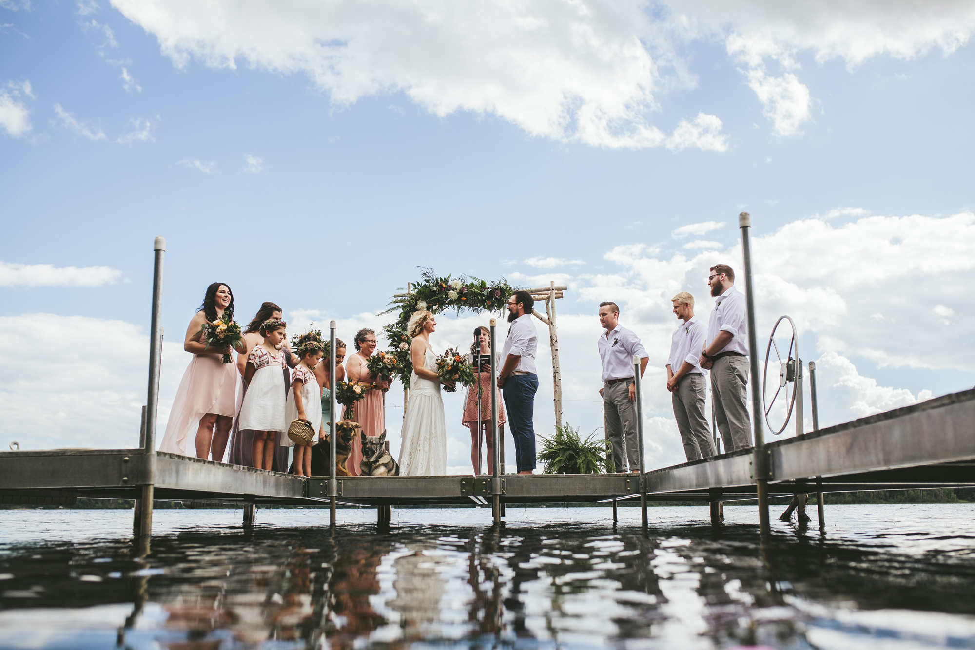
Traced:
<path fill-rule="evenodd" d="M 752 217 L 748 212 L 738 215 L 741 229 L 741 249 L 745 262 L 745 299 L 748 305 L 748 352 L 752 373 L 752 425 L 755 428 L 755 449 L 752 452 L 752 468 L 755 476 L 755 489 L 759 497 L 759 528 L 762 535 L 771 530 L 768 521 L 768 457 L 765 452 L 765 434 L 761 423 L 764 411 L 761 408 L 761 387 L 759 381 L 759 343 L 755 331 L 755 287 L 752 283 L 752 242 L 749 231 Z"/>

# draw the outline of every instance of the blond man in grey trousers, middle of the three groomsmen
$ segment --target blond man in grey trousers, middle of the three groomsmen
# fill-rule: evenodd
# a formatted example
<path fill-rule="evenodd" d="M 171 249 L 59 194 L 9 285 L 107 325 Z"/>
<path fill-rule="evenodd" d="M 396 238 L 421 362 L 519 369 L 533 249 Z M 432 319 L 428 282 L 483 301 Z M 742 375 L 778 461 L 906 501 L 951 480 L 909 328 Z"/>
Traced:
<path fill-rule="evenodd" d="M 697 460 L 715 455 L 708 419 L 704 415 L 708 371 L 701 367 L 697 352 L 704 349 L 707 330 L 694 316 L 694 296 L 681 291 L 671 301 L 674 313 L 683 323 L 671 337 L 667 390 L 671 392 L 683 453 L 687 460 Z"/>

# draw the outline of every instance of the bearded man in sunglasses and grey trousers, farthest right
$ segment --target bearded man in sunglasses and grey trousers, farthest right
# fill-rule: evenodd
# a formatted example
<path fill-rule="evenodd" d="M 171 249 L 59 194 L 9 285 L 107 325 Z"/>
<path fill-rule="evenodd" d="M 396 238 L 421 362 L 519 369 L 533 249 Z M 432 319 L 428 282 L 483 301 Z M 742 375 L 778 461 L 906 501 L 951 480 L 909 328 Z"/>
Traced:
<path fill-rule="evenodd" d="M 748 313 L 745 296 L 734 287 L 734 271 L 727 264 L 711 267 L 708 277 L 715 309 L 708 323 L 708 338 L 699 362 L 711 370 L 715 421 L 725 451 L 752 446 L 752 419 L 748 415 Z"/>

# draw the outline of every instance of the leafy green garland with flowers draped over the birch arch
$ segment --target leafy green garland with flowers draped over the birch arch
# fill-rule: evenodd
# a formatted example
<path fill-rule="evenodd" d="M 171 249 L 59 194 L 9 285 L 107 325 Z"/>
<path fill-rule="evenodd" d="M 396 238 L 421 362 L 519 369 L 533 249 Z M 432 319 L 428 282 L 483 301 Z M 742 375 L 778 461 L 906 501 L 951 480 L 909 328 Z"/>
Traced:
<path fill-rule="evenodd" d="M 400 381 L 409 389 L 409 375 L 413 371 L 413 364 L 409 359 L 409 344 L 413 339 L 409 336 L 407 325 L 409 317 L 415 312 L 426 310 L 434 314 L 446 312 L 449 309 L 470 310 L 475 314 L 480 312 L 502 312 L 508 303 L 508 298 L 518 290 L 512 287 L 504 278 L 487 282 L 471 276 L 469 280 L 461 275 L 438 277 L 433 269 L 420 267 L 420 277 L 423 282 L 410 283 L 410 291 L 405 298 L 394 298 L 390 304 L 396 305 L 385 313 L 400 311 L 396 321 L 384 326 L 391 350 L 387 354 L 396 357 Z"/>

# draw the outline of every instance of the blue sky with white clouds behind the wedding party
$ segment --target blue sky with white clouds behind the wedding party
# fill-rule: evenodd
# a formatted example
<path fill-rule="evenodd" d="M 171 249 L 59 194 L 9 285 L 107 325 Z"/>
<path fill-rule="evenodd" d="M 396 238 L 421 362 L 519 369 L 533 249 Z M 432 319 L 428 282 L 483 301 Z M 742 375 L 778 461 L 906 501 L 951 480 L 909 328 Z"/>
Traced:
<path fill-rule="evenodd" d="M 682 462 L 670 298 L 707 318 L 743 210 L 761 357 L 791 316 L 823 426 L 969 389 L 973 29 L 971 2 L 908 0 L 0 0 L 0 443 L 137 443 L 157 235 L 160 432 L 210 283 L 241 321 L 273 300 L 292 334 L 350 340 L 432 267 L 568 287 L 583 436 L 602 436 L 597 307 L 619 303 L 650 355 L 647 467 Z M 434 348 L 487 318 L 443 315 Z"/>

